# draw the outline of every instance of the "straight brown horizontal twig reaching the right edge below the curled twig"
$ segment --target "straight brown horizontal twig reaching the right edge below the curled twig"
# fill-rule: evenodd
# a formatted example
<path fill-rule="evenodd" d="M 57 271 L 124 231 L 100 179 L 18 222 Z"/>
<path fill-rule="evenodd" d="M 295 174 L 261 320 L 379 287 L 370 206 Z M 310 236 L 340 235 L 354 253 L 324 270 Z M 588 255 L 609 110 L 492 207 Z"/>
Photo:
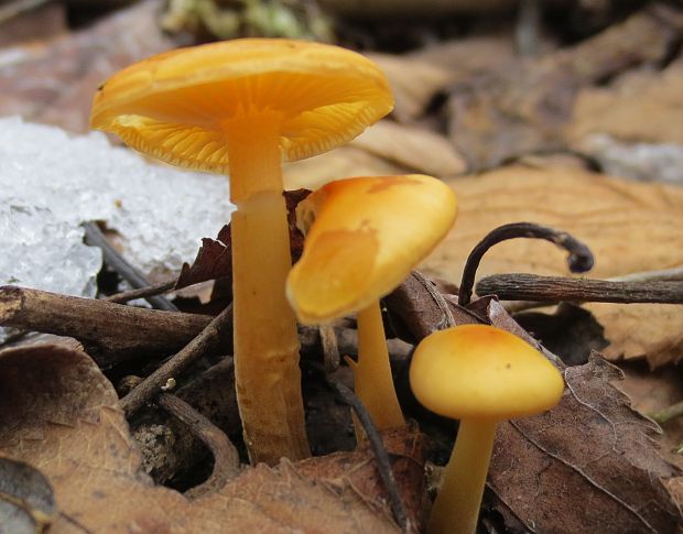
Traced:
<path fill-rule="evenodd" d="M 683 304 L 683 282 L 610 282 L 514 273 L 486 276 L 478 295 L 502 301 Z"/>

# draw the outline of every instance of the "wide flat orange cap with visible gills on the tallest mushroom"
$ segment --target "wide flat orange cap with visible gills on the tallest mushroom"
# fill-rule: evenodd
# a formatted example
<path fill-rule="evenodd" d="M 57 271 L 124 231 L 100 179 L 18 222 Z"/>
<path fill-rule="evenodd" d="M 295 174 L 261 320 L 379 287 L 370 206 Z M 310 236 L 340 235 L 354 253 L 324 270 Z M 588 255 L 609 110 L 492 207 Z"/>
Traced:
<path fill-rule="evenodd" d="M 178 48 L 135 63 L 98 89 L 90 127 L 169 163 L 227 173 L 225 128 L 268 111 L 281 121 L 284 161 L 334 149 L 393 108 L 381 70 L 321 43 L 242 39 Z"/>

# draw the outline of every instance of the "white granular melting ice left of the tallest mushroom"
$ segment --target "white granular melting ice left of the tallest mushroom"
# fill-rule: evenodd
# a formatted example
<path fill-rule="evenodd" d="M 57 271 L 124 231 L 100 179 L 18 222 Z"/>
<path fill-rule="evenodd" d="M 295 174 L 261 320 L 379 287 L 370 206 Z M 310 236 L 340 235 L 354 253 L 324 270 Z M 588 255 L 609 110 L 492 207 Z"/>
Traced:
<path fill-rule="evenodd" d="M 105 135 L 0 118 L 0 285 L 94 296 L 98 249 L 80 222 L 104 220 L 144 273 L 192 261 L 230 218 L 227 181 L 147 163 Z"/>

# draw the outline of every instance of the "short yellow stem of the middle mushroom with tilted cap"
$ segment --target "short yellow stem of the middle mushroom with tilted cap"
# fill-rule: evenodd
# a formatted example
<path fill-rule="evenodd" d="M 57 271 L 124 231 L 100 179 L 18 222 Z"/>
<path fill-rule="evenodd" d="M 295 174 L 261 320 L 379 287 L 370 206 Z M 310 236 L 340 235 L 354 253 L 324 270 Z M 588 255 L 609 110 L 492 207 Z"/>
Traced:
<path fill-rule="evenodd" d="M 379 301 L 358 312 L 358 363 L 354 366 L 356 394 L 378 429 L 403 426 L 389 364 L 389 350 Z"/>

